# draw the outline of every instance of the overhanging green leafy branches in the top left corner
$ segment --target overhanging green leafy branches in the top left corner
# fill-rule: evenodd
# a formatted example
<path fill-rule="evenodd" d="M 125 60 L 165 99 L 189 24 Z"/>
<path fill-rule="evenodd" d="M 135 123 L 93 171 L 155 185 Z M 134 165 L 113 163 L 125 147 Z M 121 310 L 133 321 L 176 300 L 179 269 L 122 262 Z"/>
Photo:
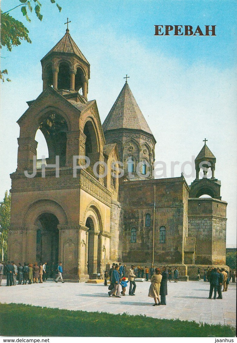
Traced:
<path fill-rule="evenodd" d="M 19 3 L 20 2 L 20 3 Z M 50 0 L 51 3 L 55 3 L 55 0 Z M 9 12 L 15 10 L 16 8 L 21 8 L 23 16 L 28 22 L 31 21 L 29 18 L 29 13 L 35 12 L 36 16 L 40 21 L 43 19 L 43 15 L 40 13 L 42 4 L 38 0 L 17 0 L 18 5 L 9 9 L 6 12 L 1 10 L 1 43 L 0 47 L 6 47 L 7 50 L 11 51 L 12 47 L 18 46 L 21 44 L 22 40 L 31 43 L 31 39 L 28 36 L 28 29 L 23 25 L 22 22 L 16 20 L 12 17 Z M 56 3 L 59 12 L 61 7 Z M 8 74 L 7 69 L 0 71 L 0 79 L 4 82 L 4 76 Z M 10 79 L 6 79 L 11 81 Z"/>

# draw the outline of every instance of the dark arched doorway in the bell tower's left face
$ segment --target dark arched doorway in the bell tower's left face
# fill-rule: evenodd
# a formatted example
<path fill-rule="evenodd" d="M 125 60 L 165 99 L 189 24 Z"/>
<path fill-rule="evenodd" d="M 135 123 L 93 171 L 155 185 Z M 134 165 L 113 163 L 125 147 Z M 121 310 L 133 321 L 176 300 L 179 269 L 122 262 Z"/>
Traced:
<path fill-rule="evenodd" d="M 58 263 L 59 231 L 58 218 L 52 213 L 42 213 L 36 220 L 36 261 L 49 265 Z"/>

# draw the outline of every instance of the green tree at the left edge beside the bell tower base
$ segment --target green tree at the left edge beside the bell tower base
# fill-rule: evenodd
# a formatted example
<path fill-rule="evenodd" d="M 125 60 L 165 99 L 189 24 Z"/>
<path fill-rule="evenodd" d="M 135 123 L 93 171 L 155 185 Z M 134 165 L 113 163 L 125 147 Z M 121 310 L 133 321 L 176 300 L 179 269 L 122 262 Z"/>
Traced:
<path fill-rule="evenodd" d="M 0 202 L 0 254 L 7 258 L 8 229 L 10 227 L 11 194 L 5 191 L 3 201 Z M 3 257 L 3 256 L 2 256 Z"/>

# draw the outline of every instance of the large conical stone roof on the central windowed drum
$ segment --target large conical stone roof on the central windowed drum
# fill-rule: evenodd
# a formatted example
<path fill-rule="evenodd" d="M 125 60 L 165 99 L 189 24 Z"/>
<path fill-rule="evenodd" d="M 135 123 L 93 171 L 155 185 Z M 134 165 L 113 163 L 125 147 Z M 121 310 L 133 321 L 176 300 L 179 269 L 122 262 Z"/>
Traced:
<path fill-rule="evenodd" d="M 102 127 L 104 132 L 115 129 L 135 129 L 152 135 L 127 82 L 109 111 Z"/>

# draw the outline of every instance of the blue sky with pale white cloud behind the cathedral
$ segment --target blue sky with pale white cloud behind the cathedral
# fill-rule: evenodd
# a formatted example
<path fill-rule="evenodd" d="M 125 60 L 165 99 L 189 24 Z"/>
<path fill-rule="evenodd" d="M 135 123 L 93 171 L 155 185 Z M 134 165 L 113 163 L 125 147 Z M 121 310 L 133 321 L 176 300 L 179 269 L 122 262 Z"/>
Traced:
<path fill-rule="evenodd" d="M 216 156 L 227 206 L 227 243 L 236 241 L 236 1 L 60 1 L 62 11 L 42 0 L 43 21 L 19 9 L 11 15 L 29 29 L 32 44 L 2 49 L 1 69 L 11 83 L 1 85 L 1 193 L 16 169 L 16 120 L 26 101 L 42 91 L 41 64 L 65 33 L 91 64 L 89 99 L 96 99 L 102 122 L 128 74 L 129 86 L 155 138 L 156 161 L 191 161 L 203 146 Z M 9 2 L 2 1 L 3 12 Z M 17 1 L 12 1 L 12 7 Z M 154 25 L 216 25 L 216 37 L 154 36 Z M 6 134 L 7 132 L 7 134 Z M 44 148 L 42 148 L 44 149 Z M 177 166 L 175 175 L 180 175 Z M 193 178 L 187 178 L 188 184 Z M 231 180 L 231 182 L 230 182 Z"/>

